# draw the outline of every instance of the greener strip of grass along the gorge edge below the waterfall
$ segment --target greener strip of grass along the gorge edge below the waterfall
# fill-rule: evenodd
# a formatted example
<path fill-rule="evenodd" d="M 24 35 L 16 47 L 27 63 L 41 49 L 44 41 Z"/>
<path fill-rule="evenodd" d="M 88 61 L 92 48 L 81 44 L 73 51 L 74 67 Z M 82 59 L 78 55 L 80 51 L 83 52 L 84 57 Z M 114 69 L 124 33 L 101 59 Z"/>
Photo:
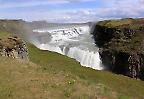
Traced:
<path fill-rule="evenodd" d="M 31 61 L 41 65 L 39 71 L 46 73 L 70 73 L 78 76 L 80 79 L 88 81 L 90 84 L 102 84 L 106 86 L 106 89 L 110 88 L 118 93 L 118 97 L 124 96 L 124 99 L 125 97 L 129 97 L 130 99 L 144 98 L 143 81 L 115 75 L 110 72 L 96 71 L 90 68 L 81 67 L 80 64 L 73 59 L 57 53 L 41 51 L 33 45 L 29 45 L 29 51 Z M 103 94 L 106 95 L 105 92 Z"/>

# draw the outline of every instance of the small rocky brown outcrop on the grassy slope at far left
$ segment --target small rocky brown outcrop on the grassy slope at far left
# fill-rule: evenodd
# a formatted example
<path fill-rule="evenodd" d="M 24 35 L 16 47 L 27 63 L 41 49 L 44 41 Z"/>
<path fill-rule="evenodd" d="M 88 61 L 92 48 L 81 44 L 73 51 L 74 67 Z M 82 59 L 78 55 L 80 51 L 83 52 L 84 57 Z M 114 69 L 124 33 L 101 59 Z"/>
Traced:
<path fill-rule="evenodd" d="M 18 37 L 0 39 L 0 55 L 28 60 L 26 44 Z"/>

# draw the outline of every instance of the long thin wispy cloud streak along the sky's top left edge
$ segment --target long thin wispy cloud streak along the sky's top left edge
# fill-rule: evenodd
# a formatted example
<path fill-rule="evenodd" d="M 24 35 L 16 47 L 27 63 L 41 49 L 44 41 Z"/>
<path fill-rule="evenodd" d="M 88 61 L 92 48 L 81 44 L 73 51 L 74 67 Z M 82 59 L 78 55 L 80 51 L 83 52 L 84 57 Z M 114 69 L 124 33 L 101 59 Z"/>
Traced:
<path fill-rule="evenodd" d="M 0 1 L 0 8 L 17 8 L 17 7 L 30 7 L 30 6 L 39 6 L 39 5 L 60 5 L 67 4 L 72 2 L 90 2 L 94 0 L 25 0 L 18 2 L 4 2 Z"/>

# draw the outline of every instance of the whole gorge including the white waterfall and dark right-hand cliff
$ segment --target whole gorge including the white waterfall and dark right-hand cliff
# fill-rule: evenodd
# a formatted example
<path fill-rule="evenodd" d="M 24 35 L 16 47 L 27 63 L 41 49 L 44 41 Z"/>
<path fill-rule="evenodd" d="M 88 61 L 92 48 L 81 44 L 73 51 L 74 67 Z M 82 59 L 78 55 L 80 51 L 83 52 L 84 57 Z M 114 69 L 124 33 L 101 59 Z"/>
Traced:
<path fill-rule="evenodd" d="M 0 26 L 41 50 L 74 58 L 82 66 L 143 79 L 143 23 L 144 19 L 132 18 L 94 24 L 2 20 Z"/>

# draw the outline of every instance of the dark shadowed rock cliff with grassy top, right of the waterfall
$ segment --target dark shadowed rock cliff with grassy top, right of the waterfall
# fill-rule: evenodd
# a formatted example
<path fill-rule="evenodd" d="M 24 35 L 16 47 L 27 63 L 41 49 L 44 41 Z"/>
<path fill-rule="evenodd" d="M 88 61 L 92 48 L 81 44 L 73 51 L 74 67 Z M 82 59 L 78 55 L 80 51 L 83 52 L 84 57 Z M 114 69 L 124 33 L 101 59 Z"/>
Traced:
<path fill-rule="evenodd" d="M 93 35 L 107 69 L 143 79 L 144 19 L 100 21 Z"/>

